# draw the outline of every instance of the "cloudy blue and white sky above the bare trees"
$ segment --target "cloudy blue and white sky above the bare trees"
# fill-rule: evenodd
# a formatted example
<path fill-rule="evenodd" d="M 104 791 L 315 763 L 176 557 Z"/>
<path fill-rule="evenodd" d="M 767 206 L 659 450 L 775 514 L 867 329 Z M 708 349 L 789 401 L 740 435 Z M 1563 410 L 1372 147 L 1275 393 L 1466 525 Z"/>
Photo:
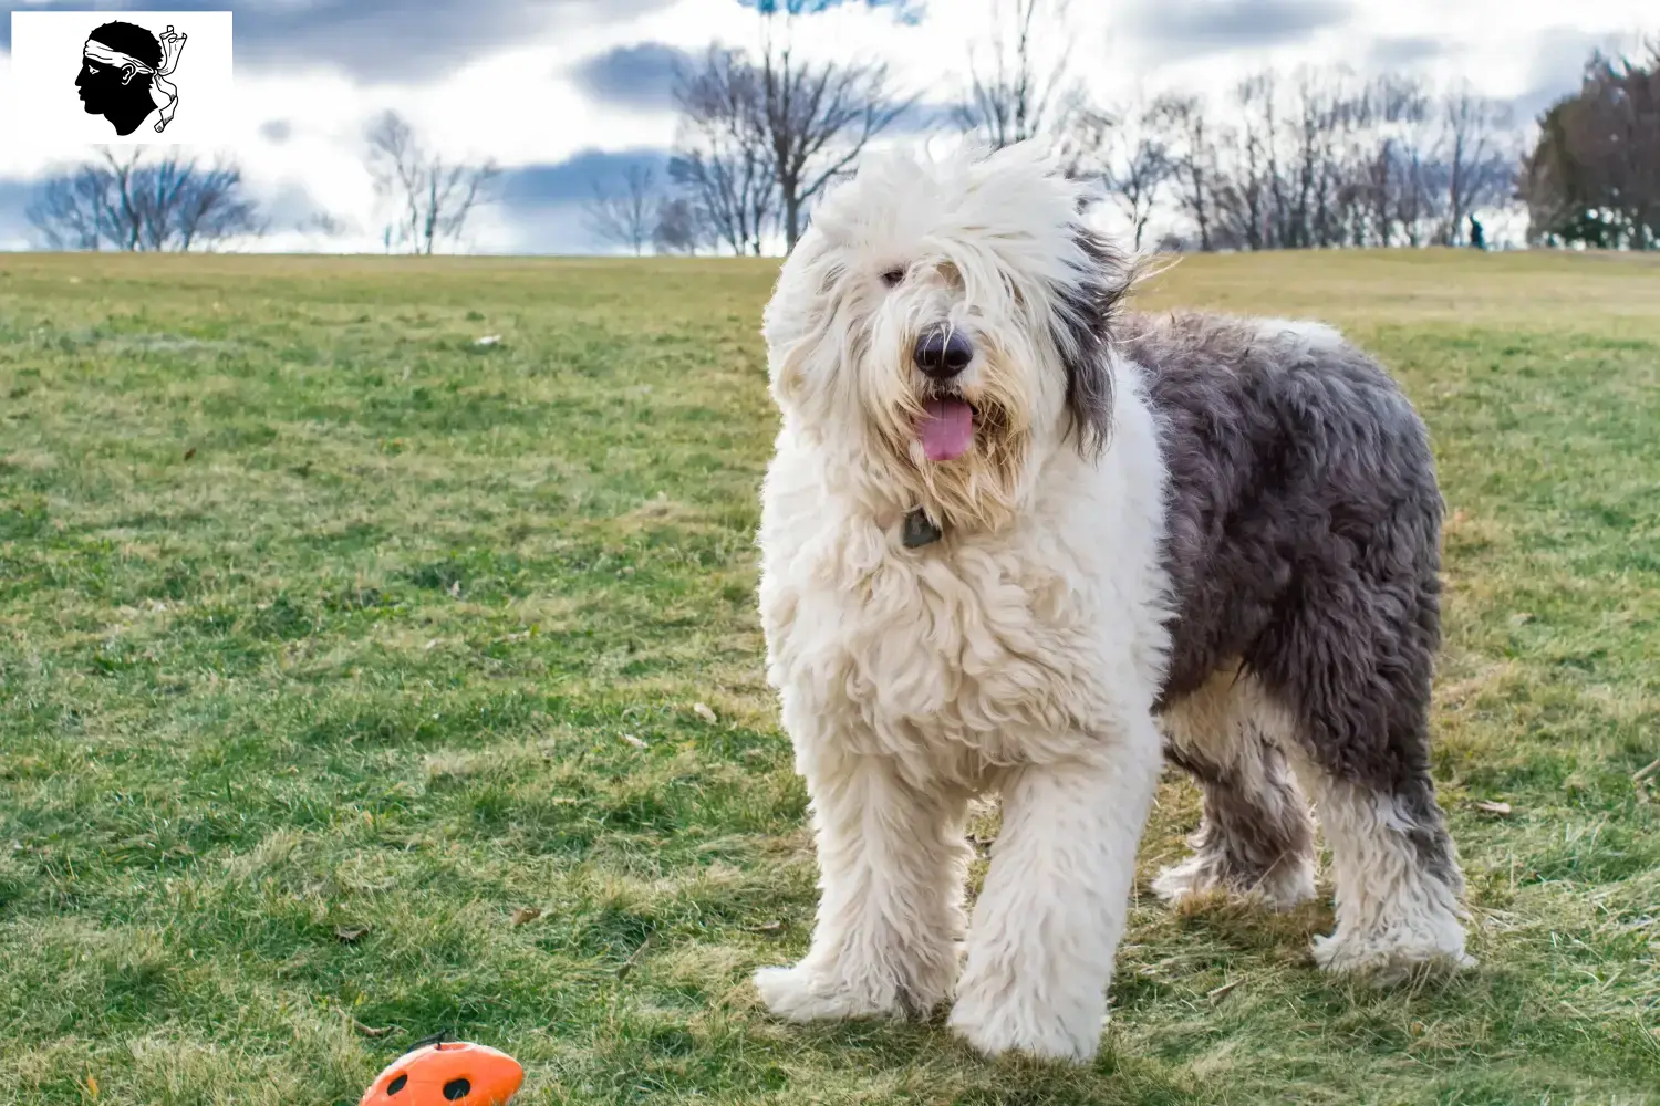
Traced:
<path fill-rule="evenodd" d="M 961 90 L 991 0 L 926 0 L 901 23 L 853 0 L 797 27 L 803 50 L 883 56 L 925 104 Z M 659 164 L 674 141 L 674 65 L 710 40 L 752 45 L 739 0 L 42 0 L 15 10 L 232 10 L 242 131 L 234 153 L 272 212 L 272 249 L 375 249 L 383 216 L 362 164 L 369 119 L 397 108 L 455 154 L 495 158 L 500 201 L 471 247 L 603 249 L 583 227 L 594 181 Z M 0 66 L 10 66 L 10 20 Z M 1220 93 L 1265 65 L 1467 78 L 1534 114 L 1599 45 L 1660 30 L 1655 0 L 1072 0 L 1072 65 L 1106 101 Z M 8 81 L 0 81 L 7 88 Z M 13 111 L 15 104 L 0 104 Z M 27 244 L 32 186 L 65 151 L 0 146 L 0 247 Z M 349 230 L 295 227 L 327 212 Z"/>

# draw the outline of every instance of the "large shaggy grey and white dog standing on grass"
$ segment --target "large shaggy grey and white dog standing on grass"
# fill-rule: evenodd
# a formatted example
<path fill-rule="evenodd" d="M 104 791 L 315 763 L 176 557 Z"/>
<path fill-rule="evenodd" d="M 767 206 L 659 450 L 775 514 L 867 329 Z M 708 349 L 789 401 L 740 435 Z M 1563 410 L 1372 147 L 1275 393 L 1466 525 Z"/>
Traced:
<path fill-rule="evenodd" d="M 1028 148 L 870 158 L 767 305 L 760 614 L 822 872 L 807 957 L 755 975 L 780 1016 L 954 997 L 984 1053 L 1089 1058 L 1164 756 L 1204 824 L 1162 897 L 1310 899 L 1306 794 L 1315 960 L 1466 962 L 1423 423 L 1326 327 L 1120 312 L 1079 211 Z"/>

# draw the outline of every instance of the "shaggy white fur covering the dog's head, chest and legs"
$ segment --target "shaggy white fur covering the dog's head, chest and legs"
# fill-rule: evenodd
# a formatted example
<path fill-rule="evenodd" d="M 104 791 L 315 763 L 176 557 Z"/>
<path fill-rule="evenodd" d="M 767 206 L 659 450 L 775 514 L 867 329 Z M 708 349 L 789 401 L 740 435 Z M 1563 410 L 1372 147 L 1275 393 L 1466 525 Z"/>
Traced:
<path fill-rule="evenodd" d="M 986 1053 L 1096 1051 L 1160 771 L 1180 597 L 1164 415 L 1111 340 L 1130 267 L 1077 212 L 1077 187 L 1033 149 L 870 158 L 817 212 L 767 307 L 784 424 L 764 488 L 760 612 L 822 871 L 807 957 L 755 977 L 782 1016 L 954 1000 L 951 1028 Z M 950 335 L 968 360 L 946 370 Z M 966 451 L 928 428 L 963 416 L 959 403 Z M 906 541 L 916 512 L 923 539 Z M 1207 686 L 1212 713 L 1227 713 L 1227 693 Z M 1253 701 L 1235 696 L 1242 718 L 1270 710 Z M 1295 728 L 1296 711 L 1282 713 Z M 1222 759 L 1263 778 L 1272 753 L 1278 771 L 1267 730 Z M 1252 781 L 1237 776 L 1245 799 L 1265 794 Z M 1343 806 L 1350 821 L 1393 817 L 1383 791 L 1383 806 L 1373 789 Z M 969 920 L 963 826 L 983 793 L 1001 793 L 1003 829 Z M 1306 809 L 1280 813 L 1290 837 L 1275 846 L 1268 819 L 1257 844 L 1285 857 L 1250 882 L 1288 905 L 1313 894 L 1313 856 L 1295 832 Z M 1368 864 L 1361 884 L 1393 882 L 1340 919 L 1335 955 L 1457 958 L 1456 880 L 1426 876 L 1434 866 L 1404 837 L 1368 847 L 1384 859 L 1350 849 L 1338 862 Z M 1160 890 L 1232 885 L 1240 864 L 1202 847 Z M 1413 895 L 1446 887 L 1452 899 L 1419 917 Z"/>

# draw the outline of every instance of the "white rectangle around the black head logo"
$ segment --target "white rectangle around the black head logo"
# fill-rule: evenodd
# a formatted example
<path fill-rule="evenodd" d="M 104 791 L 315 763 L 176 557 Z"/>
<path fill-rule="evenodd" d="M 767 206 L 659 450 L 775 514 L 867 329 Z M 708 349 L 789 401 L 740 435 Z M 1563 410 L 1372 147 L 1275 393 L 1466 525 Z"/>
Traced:
<path fill-rule="evenodd" d="M 75 78 L 95 27 L 136 23 L 158 38 L 186 35 L 178 68 L 168 78 L 179 90 L 173 121 L 156 133 L 159 108 L 136 131 L 120 136 L 101 114 L 86 114 Z M 0 104 L 0 133 L 13 148 L 65 151 L 86 144 L 139 146 L 234 139 L 236 95 L 231 80 L 229 12 L 13 12 L 12 78 Z"/>

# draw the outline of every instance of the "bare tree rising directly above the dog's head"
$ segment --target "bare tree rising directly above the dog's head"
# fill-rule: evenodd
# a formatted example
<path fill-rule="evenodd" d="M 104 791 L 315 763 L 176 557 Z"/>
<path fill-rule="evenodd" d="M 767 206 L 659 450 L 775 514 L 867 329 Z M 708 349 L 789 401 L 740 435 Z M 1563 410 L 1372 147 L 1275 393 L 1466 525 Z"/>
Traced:
<path fill-rule="evenodd" d="M 1067 8 L 1069 0 L 991 0 L 991 40 L 969 51 L 958 126 L 993 149 L 1064 128 L 1081 101 Z"/>

